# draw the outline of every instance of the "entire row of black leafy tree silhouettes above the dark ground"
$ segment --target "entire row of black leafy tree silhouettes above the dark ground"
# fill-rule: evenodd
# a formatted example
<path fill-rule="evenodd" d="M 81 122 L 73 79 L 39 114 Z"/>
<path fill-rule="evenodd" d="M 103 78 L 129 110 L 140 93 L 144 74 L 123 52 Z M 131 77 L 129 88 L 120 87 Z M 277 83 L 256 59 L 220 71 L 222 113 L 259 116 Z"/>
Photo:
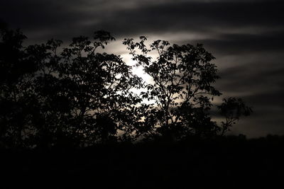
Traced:
<path fill-rule="evenodd" d="M 23 47 L 26 36 L 1 24 L 0 137 L 2 147 L 84 147 L 137 139 L 185 139 L 224 134 L 249 115 L 241 99 L 219 106 L 226 121 L 217 125 L 209 110 L 217 76 L 214 57 L 202 45 L 170 45 L 156 40 L 147 48 L 125 39 L 137 66 L 153 78 L 146 84 L 119 55 L 102 52 L 114 40 L 105 31 L 93 40 L 80 36 Z M 148 52 L 156 51 L 153 60 Z M 133 88 L 146 88 L 137 94 Z M 155 103 L 143 103 L 143 100 Z"/>

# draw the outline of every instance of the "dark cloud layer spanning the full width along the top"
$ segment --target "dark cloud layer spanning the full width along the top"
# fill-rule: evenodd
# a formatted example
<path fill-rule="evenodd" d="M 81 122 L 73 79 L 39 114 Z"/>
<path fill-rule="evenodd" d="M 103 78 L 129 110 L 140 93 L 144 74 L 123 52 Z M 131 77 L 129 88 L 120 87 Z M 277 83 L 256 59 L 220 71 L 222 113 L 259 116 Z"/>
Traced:
<path fill-rule="evenodd" d="M 0 12 L 4 20 L 28 33 L 44 31 L 48 36 L 70 37 L 99 28 L 121 36 L 181 30 L 209 33 L 229 28 L 284 27 L 284 3 L 281 1 L 119 2 L 3 0 Z"/>

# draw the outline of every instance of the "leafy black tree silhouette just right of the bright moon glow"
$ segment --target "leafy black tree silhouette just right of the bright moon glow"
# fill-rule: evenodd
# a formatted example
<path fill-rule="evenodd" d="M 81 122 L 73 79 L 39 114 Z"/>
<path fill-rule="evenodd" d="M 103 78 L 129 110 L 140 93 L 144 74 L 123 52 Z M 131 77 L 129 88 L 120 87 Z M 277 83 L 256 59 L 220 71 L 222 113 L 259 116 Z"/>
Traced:
<path fill-rule="evenodd" d="M 220 131 L 224 134 L 241 115 L 251 113 L 241 99 L 237 103 L 235 98 L 224 99 L 219 108 L 226 122 L 218 126 L 209 114 L 214 96 L 221 95 L 213 86 L 219 76 L 216 66 L 210 63 L 212 54 L 201 44 L 170 45 L 168 41 L 155 40 L 149 48 L 146 40 L 144 36 L 140 42 L 124 40 L 136 66 L 142 66 L 153 79 L 146 86 L 148 91 L 141 93 L 143 98 L 154 101 L 145 115 L 149 128 L 146 134 L 175 139 L 215 136 Z M 148 56 L 152 51 L 158 54 L 154 60 Z M 233 109 L 237 109 L 236 115 L 230 113 Z"/>

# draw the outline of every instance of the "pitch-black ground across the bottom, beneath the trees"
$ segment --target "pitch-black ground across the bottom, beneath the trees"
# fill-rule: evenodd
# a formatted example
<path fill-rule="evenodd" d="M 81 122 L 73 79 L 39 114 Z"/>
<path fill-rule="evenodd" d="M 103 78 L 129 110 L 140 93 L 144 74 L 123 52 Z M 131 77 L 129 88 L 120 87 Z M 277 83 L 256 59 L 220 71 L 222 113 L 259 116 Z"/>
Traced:
<path fill-rule="evenodd" d="M 268 136 L 2 149 L 1 188 L 276 188 L 283 147 Z"/>

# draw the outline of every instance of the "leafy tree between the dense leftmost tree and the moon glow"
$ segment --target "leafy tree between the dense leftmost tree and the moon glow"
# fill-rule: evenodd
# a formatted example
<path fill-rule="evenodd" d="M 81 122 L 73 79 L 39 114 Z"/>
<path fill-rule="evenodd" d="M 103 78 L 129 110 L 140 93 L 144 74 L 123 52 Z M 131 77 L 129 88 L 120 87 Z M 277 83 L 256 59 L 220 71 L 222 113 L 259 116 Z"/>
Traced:
<path fill-rule="evenodd" d="M 83 36 L 73 38 L 60 55 L 60 40 L 27 48 L 33 62 L 40 60 L 33 116 L 38 141 L 89 145 L 133 140 L 140 119 L 134 106 L 141 98 L 130 90 L 141 88 L 142 81 L 121 57 L 97 52 L 109 40 L 114 38 L 104 31 L 94 33 L 94 42 Z"/>

